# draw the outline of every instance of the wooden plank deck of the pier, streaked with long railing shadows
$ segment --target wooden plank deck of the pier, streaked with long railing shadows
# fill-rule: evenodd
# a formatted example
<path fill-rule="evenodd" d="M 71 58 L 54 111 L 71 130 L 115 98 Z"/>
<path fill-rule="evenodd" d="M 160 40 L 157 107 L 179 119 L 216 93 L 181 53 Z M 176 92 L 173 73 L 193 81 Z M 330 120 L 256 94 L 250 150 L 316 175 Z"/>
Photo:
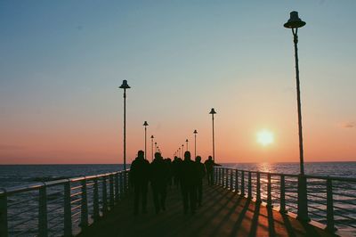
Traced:
<path fill-rule="evenodd" d="M 168 189 L 166 211 L 159 214 L 149 192 L 148 214 L 134 217 L 129 195 L 79 236 L 335 236 L 222 187 L 204 186 L 203 192 L 203 205 L 195 215 L 183 214 L 181 192 L 174 187 Z"/>

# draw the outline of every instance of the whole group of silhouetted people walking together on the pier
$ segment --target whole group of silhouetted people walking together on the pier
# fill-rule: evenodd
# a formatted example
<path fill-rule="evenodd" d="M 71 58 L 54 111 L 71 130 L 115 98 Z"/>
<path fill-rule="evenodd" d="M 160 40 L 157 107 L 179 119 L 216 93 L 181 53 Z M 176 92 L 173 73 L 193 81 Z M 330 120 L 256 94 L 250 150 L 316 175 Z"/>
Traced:
<path fill-rule="evenodd" d="M 184 159 L 174 157 L 174 160 L 163 159 L 159 152 L 150 163 L 144 159 L 144 152 L 138 151 L 130 169 L 130 182 L 134 187 L 134 215 L 139 213 L 139 202 L 142 199 L 142 213 L 147 213 L 147 194 L 149 184 L 153 194 L 155 211 L 158 214 L 166 210 L 167 186 L 180 188 L 184 214 L 190 210 L 196 212 L 197 206 L 202 205 L 203 178 L 207 184 L 213 184 L 214 163 L 211 156 L 203 163 L 197 156 L 195 161 L 190 159 L 190 151 L 185 151 Z"/>

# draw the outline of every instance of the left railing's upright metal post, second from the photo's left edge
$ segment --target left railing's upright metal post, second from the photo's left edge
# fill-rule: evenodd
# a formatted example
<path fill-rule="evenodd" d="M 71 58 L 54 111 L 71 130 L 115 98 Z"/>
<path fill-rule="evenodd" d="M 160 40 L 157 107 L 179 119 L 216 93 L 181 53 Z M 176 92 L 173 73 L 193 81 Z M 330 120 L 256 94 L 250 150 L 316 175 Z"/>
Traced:
<path fill-rule="evenodd" d="M 47 191 L 45 184 L 39 188 L 38 197 L 38 236 L 48 236 Z M 2 235 L 1 235 L 2 236 Z"/>

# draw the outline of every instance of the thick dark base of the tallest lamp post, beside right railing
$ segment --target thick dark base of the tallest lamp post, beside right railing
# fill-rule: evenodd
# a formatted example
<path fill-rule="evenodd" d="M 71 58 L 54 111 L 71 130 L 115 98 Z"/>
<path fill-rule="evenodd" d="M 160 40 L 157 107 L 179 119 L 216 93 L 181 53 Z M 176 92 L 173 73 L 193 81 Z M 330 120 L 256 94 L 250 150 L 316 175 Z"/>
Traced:
<path fill-rule="evenodd" d="M 304 175 L 298 176 L 298 210 L 297 210 L 297 219 L 309 222 L 308 217 L 308 197 L 307 197 L 307 186 L 306 186 L 306 177 Z"/>

